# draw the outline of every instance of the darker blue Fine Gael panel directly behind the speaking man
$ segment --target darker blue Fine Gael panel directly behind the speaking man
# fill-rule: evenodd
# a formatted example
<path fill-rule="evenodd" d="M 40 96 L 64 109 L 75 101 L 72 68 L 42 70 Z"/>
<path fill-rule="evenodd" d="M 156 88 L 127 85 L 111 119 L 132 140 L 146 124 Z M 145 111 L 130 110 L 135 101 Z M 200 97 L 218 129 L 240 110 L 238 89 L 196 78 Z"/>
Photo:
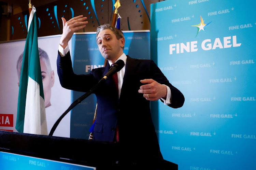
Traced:
<path fill-rule="evenodd" d="M 124 32 L 124 53 L 132 58 L 150 59 L 150 32 Z M 138 50 L 140 47 L 140 50 Z M 96 43 L 96 33 L 75 34 L 72 37 L 72 63 L 76 74 L 89 73 L 91 69 L 103 67 L 104 58 Z M 83 92 L 72 91 L 71 102 Z M 90 95 L 71 111 L 70 137 L 89 138 L 96 106 L 95 95 Z"/>

